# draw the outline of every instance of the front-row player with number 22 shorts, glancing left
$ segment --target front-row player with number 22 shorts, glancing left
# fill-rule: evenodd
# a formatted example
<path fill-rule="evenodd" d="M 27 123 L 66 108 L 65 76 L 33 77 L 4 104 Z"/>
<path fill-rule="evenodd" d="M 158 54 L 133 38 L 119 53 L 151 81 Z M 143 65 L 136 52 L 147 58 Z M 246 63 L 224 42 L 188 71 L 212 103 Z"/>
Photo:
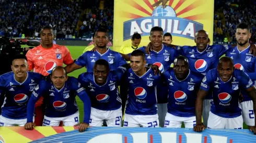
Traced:
<path fill-rule="evenodd" d="M 144 52 L 134 50 L 131 54 L 131 69 L 125 76 L 129 90 L 124 127 L 159 127 L 156 84 L 160 81 L 160 76 L 155 75 L 145 64 Z"/>

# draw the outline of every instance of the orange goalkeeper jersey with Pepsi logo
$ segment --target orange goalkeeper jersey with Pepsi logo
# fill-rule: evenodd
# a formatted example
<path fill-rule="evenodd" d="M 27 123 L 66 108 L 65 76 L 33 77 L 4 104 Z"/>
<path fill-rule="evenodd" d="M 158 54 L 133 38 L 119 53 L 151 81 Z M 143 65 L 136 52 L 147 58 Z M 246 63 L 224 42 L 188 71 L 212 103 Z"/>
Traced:
<path fill-rule="evenodd" d="M 49 75 L 56 66 L 63 66 L 74 62 L 66 46 L 53 44 L 51 48 L 43 48 L 41 45 L 29 50 L 27 55 L 28 70 Z"/>

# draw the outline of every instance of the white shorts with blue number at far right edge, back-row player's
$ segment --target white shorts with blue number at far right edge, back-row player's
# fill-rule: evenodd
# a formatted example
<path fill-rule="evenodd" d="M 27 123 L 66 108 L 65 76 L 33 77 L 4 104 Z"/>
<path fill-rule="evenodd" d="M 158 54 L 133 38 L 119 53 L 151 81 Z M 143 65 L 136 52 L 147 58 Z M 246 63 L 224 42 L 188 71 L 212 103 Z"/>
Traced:
<path fill-rule="evenodd" d="M 242 118 L 243 121 L 246 122 L 248 126 L 254 126 L 254 112 L 253 112 L 253 102 L 250 101 L 244 101 L 240 103 L 241 109 L 242 109 Z"/>

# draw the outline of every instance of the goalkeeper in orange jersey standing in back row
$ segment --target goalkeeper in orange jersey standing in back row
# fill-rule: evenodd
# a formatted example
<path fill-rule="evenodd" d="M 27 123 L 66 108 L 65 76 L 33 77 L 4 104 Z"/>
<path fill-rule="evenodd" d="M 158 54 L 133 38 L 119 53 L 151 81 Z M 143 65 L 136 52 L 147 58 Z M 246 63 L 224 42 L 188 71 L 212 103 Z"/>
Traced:
<path fill-rule="evenodd" d="M 29 50 L 26 54 L 28 58 L 28 70 L 48 76 L 56 66 L 71 64 L 74 60 L 66 46 L 53 44 L 53 29 L 45 26 L 40 31 L 42 44 Z M 35 123 L 41 126 L 43 122 L 43 98 L 36 103 Z"/>

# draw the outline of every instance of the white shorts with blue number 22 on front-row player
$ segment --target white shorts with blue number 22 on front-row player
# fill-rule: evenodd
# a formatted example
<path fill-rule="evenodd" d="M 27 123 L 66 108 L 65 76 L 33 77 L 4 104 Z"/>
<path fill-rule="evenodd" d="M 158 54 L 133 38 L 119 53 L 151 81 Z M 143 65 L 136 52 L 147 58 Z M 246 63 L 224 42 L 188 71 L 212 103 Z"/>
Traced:
<path fill-rule="evenodd" d="M 158 114 L 130 115 L 124 114 L 123 127 L 159 127 Z"/>

